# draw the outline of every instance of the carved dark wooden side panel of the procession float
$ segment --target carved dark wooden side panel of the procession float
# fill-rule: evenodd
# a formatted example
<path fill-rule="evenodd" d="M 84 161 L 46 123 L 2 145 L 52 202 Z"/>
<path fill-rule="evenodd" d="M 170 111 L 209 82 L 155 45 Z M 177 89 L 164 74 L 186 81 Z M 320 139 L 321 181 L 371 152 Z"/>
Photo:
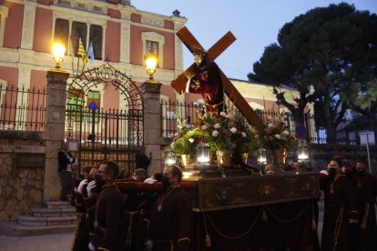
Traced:
<path fill-rule="evenodd" d="M 199 178 L 194 210 L 213 211 L 320 196 L 318 173 Z"/>

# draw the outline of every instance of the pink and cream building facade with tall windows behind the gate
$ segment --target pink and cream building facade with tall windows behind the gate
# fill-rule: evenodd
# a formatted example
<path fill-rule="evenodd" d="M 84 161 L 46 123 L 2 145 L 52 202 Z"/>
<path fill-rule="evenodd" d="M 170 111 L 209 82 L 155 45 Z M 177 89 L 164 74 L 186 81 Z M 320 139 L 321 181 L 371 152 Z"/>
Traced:
<path fill-rule="evenodd" d="M 184 70 L 183 45 L 175 34 L 187 21 L 178 12 L 167 16 L 138 10 L 130 1 L 0 1 L 0 84 L 46 87 L 46 72 L 55 65 L 51 45 L 60 42 L 66 46 L 62 68 L 71 77 L 108 61 L 141 85 L 148 78 L 145 55 L 153 53 L 158 55 L 155 79 L 163 84 L 161 99 L 202 103 L 200 95 L 178 95 L 170 86 Z M 94 60 L 84 67 L 77 56 L 80 40 L 86 50 L 93 47 Z M 231 81 L 254 109 L 280 109 L 270 86 Z M 293 102 L 297 93 L 285 91 L 292 93 L 287 96 Z M 110 103 L 118 109 L 127 105 L 116 98 L 117 90 L 106 86 L 90 95 L 103 108 Z"/>

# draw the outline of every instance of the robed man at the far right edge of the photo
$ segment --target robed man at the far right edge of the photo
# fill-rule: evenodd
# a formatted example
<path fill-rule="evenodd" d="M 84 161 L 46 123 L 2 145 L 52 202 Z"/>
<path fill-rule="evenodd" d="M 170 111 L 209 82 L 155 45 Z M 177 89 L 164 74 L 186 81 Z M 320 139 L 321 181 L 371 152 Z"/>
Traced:
<path fill-rule="evenodd" d="M 356 206 L 359 211 L 359 224 L 352 230 L 352 250 L 377 250 L 377 225 L 374 204 L 377 196 L 377 179 L 367 173 L 368 162 L 356 162 L 356 172 L 352 176 L 352 186 L 356 191 Z"/>

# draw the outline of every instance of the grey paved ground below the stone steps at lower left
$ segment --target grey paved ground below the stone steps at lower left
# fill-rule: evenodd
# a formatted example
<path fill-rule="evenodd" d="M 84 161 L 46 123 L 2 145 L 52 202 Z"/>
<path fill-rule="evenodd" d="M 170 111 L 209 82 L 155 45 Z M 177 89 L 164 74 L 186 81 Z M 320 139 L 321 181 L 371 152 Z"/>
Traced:
<path fill-rule="evenodd" d="M 323 201 L 320 202 L 320 223 L 318 232 L 321 237 L 323 218 Z M 67 251 L 70 250 L 73 234 L 56 234 L 47 236 L 0 236 L 1 251 Z"/>

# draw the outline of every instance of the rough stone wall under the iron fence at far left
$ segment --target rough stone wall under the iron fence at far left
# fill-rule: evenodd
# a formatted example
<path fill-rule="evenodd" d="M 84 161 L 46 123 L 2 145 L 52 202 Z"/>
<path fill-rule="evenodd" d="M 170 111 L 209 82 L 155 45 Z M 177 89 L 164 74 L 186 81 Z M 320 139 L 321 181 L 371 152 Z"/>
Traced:
<path fill-rule="evenodd" d="M 35 132 L 0 138 L 0 221 L 9 221 L 44 203 L 45 146 Z"/>

